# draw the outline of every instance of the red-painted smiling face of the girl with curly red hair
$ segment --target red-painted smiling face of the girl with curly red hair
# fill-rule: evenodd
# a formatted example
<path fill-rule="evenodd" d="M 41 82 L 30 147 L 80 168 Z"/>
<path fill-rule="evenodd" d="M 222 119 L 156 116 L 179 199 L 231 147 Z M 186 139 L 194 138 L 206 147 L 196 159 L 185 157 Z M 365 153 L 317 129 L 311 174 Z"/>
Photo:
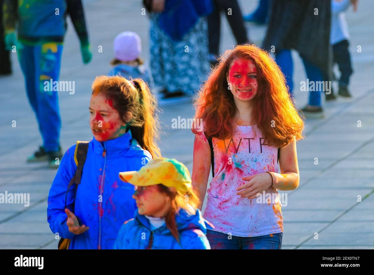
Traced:
<path fill-rule="evenodd" d="M 235 98 L 249 101 L 257 93 L 257 68 L 252 59 L 237 58 L 229 70 L 229 83 Z"/>

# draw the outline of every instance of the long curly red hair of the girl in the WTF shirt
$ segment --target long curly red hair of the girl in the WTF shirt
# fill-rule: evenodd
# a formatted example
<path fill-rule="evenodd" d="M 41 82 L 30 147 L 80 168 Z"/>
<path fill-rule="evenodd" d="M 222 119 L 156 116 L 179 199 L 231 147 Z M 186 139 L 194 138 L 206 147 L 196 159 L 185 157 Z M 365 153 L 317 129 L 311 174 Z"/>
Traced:
<path fill-rule="evenodd" d="M 285 77 L 273 58 L 255 45 L 239 45 L 227 50 L 203 83 L 194 106 L 195 118 L 202 119 L 205 135 L 225 139 L 236 131 L 233 122 L 236 106 L 226 75 L 237 58 L 252 59 L 257 67 L 258 90 L 252 99 L 252 121 L 262 132 L 266 144 L 284 147 L 294 137 L 302 139 L 304 122 L 289 97 Z M 193 128 L 192 132 L 197 134 L 198 129 Z"/>

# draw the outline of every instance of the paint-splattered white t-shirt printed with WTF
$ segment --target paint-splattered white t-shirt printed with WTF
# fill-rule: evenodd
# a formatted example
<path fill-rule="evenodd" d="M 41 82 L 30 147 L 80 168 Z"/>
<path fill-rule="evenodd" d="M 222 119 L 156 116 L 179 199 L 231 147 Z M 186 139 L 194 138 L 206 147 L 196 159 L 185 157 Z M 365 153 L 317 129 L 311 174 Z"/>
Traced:
<path fill-rule="evenodd" d="M 204 131 L 198 135 L 208 142 Z M 278 148 L 264 143 L 256 126 L 237 126 L 232 138 L 212 139 L 215 176 L 203 217 L 215 226 L 215 231 L 240 237 L 283 232 L 282 205 L 275 188 L 251 200 L 236 195 L 236 188 L 246 183 L 242 177 L 278 172 Z"/>

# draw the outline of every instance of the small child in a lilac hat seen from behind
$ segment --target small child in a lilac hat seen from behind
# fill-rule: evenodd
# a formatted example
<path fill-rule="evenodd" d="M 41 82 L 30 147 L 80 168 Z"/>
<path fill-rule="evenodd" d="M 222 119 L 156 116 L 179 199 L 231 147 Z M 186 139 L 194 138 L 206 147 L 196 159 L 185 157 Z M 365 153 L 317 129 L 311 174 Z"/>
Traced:
<path fill-rule="evenodd" d="M 144 67 L 144 61 L 140 58 L 141 39 L 132 31 L 124 31 L 114 38 L 114 59 L 110 62 L 113 69 L 108 76 L 122 76 L 128 80 L 141 78 L 153 89 L 154 83 L 151 71 Z"/>

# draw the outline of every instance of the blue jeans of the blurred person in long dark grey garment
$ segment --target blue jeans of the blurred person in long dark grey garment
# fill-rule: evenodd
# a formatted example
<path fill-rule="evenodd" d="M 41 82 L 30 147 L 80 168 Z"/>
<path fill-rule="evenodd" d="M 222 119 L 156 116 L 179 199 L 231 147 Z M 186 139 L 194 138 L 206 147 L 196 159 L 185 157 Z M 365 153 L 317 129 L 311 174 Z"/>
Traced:
<path fill-rule="evenodd" d="M 304 63 L 305 72 L 309 82 L 323 81 L 321 70 L 311 62 L 304 58 L 301 58 Z M 292 75 L 294 74 L 294 64 L 292 61 L 291 50 L 283 49 L 282 51 L 275 54 L 275 62 L 281 67 L 282 73 L 286 77 L 287 86 L 289 87 L 289 94 L 291 98 L 294 98 L 293 89 L 294 83 Z M 321 92 L 322 91 L 310 91 L 309 92 L 309 105 L 321 106 Z"/>

